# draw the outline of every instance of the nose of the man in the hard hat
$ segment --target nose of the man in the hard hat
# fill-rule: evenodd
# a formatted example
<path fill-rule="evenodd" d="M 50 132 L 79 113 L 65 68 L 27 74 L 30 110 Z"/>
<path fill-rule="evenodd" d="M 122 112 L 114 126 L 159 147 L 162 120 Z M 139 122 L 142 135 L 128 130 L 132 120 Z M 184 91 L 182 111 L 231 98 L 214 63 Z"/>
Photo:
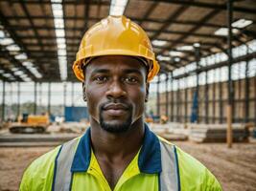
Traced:
<path fill-rule="evenodd" d="M 113 80 L 111 84 L 109 84 L 109 87 L 106 91 L 107 97 L 113 97 L 113 98 L 120 98 L 127 96 L 127 92 L 119 80 Z"/>

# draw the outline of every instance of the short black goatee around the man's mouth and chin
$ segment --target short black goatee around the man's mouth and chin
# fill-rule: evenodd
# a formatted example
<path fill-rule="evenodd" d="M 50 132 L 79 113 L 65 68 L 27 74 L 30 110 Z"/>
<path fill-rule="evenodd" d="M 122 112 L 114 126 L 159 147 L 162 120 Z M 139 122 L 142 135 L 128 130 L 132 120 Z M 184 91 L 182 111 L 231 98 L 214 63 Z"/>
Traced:
<path fill-rule="evenodd" d="M 103 109 L 104 106 L 101 107 L 100 109 L 100 126 L 102 129 L 104 129 L 108 133 L 112 134 L 121 134 L 128 132 L 128 129 L 131 126 L 132 123 L 132 107 L 129 105 L 128 106 L 128 117 L 126 120 L 124 120 L 122 123 L 119 124 L 112 124 L 111 122 L 105 121 L 103 117 Z"/>

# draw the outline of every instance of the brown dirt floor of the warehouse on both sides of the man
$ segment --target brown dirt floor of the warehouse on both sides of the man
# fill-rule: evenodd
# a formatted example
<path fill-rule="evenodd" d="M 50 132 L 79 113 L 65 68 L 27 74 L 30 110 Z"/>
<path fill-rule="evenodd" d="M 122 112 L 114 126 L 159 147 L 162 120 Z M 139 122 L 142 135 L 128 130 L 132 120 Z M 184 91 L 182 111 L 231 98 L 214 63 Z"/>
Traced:
<path fill-rule="evenodd" d="M 176 141 L 175 144 L 207 166 L 220 180 L 223 190 L 256 190 L 256 142 L 236 143 L 232 149 L 223 143 Z M 26 166 L 52 148 L 0 148 L 0 190 L 18 190 Z"/>

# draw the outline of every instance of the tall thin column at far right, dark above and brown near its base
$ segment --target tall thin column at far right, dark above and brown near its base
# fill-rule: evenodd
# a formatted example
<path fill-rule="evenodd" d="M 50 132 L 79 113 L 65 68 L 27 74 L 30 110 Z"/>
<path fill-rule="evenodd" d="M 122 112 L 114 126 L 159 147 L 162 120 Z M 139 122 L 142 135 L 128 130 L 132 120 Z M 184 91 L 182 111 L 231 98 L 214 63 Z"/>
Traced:
<path fill-rule="evenodd" d="M 233 20 L 233 2 L 232 0 L 227 1 L 227 20 L 228 20 L 228 36 L 227 36 L 227 43 L 228 43 L 228 104 L 227 104 L 227 146 L 228 148 L 232 147 L 233 142 L 233 135 L 232 135 L 232 110 L 233 110 L 233 85 L 232 85 L 232 78 L 231 78 L 231 66 L 233 62 L 233 55 L 232 55 L 232 20 Z"/>

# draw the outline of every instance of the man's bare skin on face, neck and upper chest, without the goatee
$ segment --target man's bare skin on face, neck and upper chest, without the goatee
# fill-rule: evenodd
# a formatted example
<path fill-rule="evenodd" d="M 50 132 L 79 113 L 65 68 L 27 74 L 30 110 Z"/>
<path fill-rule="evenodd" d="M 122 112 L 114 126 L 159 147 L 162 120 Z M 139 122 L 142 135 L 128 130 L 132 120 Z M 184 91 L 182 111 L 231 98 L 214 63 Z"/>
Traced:
<path fill-rule="evenodd" d="M 112 190 L 142 145 L 143 112 L 149 91 L 146 78 L 146 66 L 131 56 L 99 56 L 85 69 L 83 99 L 90 114 L 92 147 Z M 109 107 L 101 111 L 105 103 Z M 128 130 L 105 131 L 100 124 L 100 113 L 105 123 L 115 128 L 131 117 Z"/>

